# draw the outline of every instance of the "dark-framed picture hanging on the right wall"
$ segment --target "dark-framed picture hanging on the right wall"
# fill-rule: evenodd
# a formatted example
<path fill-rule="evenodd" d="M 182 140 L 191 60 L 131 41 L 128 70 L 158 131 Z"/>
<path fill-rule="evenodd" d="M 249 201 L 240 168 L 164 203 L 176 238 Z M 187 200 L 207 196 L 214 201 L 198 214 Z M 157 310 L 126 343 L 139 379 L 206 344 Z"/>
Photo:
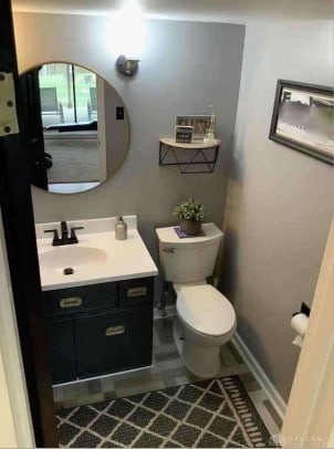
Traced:
<path fill-rule="evenodd" d="M 334 165 L 334 88 L 278 80 L 269 138 Z"/>

